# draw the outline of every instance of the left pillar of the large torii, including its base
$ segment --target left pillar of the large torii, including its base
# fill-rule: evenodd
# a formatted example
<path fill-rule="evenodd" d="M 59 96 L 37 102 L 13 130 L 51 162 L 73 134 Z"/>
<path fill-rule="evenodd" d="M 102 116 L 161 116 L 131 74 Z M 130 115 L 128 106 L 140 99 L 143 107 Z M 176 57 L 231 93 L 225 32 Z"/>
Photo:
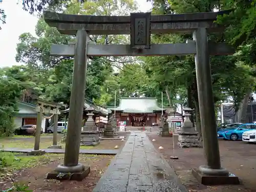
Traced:
<path fill-rule="evenodd" d="M 87 72 L 87 42 L 85 30 L 76 33 L 75 58 L 70 97 L 69 124 L 63 164 L 57 166 L 54 172 L 48 173 L 47 179 L 59 179 L 59 173 L 67 173 L 67 179 L 82 180 L 90 173 L 90 166 L 85 167 L 79 160 L 80 136 L 84 104 L 84 86 Z M 71 178 L 68 177 L 71 173 Z"/>

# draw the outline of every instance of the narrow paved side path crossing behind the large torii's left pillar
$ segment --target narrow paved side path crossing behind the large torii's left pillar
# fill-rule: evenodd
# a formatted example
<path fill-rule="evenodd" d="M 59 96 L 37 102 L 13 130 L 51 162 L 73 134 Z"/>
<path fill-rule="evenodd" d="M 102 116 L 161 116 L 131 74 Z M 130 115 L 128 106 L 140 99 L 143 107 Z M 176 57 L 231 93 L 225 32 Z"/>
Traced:
<path fill-rule="evenodd" d="M 3 148 L 2 151 L 4 152 L 14 152 L 14 153 L 28 153 L 33 150 L 32 148 Z M 65 153 L 65 150 L 59 148 L 47 148 L 44 149 L 46 153 Z M 118 154 L 119 150 L 80 150 L 80 154 L 92 154 L 92 155 L 116 155 Z"/>

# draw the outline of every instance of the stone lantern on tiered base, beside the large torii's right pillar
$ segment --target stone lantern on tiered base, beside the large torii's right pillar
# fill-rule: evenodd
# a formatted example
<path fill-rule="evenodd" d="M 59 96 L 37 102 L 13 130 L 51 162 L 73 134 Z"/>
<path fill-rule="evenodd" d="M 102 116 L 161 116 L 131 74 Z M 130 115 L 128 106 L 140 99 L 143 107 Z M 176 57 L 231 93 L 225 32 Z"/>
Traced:
<path fill-rule="evenodd" d="M 181 131 L 178 131 L 178 145 L 181 148 L 201 147 L 198 132 L 196 132 L 195 127 L 193 127 L 193 123 L 190 121 L 191 111 L 193 110 L 188 107 L 184 107 L 183 111 L 185 119 L 181 126 Z"/>

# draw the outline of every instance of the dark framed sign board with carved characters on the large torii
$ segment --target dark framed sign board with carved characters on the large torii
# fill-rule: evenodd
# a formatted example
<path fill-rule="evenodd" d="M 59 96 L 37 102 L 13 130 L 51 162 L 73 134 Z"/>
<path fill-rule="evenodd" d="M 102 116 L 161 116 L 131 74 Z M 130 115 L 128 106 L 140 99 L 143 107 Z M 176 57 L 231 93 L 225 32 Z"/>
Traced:
<path fill-rule="evenodd" d="M 150 49 L 151 12 L 131 13 L 131 49 Z"/>

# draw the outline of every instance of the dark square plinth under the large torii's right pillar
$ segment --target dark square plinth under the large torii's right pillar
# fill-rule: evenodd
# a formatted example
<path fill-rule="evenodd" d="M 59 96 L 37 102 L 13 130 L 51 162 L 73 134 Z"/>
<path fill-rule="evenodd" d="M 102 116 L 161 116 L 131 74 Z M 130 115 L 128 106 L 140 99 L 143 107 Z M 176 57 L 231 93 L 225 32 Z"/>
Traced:
<path fill-rule="evenodd" d="M 193 176 L 203 185 L 239 185 L 239 178 L 231 173 L 229 176 L 208 176 L 202 174 L 199 169 L 192 169 Z"/>

